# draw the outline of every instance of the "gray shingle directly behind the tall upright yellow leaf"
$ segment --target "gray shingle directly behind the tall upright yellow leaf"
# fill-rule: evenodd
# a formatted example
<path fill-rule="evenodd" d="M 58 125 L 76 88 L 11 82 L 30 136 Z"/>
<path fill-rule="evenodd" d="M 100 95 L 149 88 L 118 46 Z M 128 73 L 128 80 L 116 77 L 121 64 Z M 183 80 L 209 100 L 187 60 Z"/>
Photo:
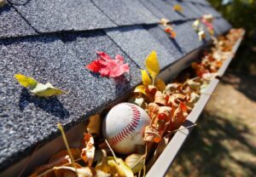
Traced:
<path fill-rule="evenodd" d="M 144 60 L 152 50 L 155 50 L 158 54 L 160 68 L 170 65 L 175 60 L 172 54 L 157 42 L 142 26 L 111 29 L 107 30 L 107 34 L 141 68 L 145 68 Z"/>

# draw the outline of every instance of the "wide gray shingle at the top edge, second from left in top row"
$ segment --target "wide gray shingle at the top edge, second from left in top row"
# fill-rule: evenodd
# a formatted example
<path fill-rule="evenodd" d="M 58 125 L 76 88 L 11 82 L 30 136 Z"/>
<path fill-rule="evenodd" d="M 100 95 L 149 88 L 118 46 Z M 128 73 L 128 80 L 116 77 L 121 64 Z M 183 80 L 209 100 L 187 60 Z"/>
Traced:
<path fill-rule="evenodd" d="M 80 31 L 115 26 L 90 0 L 10 2 L 40 32 Z"/>

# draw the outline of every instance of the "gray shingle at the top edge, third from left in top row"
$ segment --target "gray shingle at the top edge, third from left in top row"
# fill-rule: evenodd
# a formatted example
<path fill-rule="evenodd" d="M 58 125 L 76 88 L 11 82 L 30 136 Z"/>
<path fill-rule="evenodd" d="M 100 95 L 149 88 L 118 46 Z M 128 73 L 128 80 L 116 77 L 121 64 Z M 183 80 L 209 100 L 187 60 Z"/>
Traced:
<path fill-rule="evenodd" d="M 157 23 L 158 19 L 137 0 L 93 0 L 119 26 Z"/>

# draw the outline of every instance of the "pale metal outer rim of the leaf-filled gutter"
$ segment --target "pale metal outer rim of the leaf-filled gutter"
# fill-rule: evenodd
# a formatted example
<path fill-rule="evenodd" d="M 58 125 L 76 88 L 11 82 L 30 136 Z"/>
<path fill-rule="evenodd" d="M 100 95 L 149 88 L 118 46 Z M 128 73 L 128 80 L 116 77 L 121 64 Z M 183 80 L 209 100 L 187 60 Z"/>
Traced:
<path fill-rule="evenodd" d="M 242 35 L 243 36 L 243 35 Z M 226 71 L 227 67 L 230 65 L 230 61 L 236 54 L 236 50 L 240 46 L 242 37 L 236 42 L 232 49 L 232 55 L 228 57 L 227 60 L 224 61 L 223 66 L 221 66 L 218 70 L 218 73 L 222 76 L 224 71 Z M 165 151 L 160 154 L 160 157 L 156 160 L 154 165 L 149 169 L 147 177 L 154 176 L 165 176 L 168 169 L 172 165 L 175 157 L 177 156 L 178 151 L 183 146 L 185 140 L 189 137 L 189 133 L 192 131 L 193 127 L 186 128 L 189 125 L 193 125 L 196 123 L 198 117 L 201 115 L 201 111 L 203 111 L 204 107 L 207 105 L 207 101 L 210 99 L 212 92 L 217 87 L 219 80 L 217 78 L 212 79 L 211 83 L 209 83 L 206 93 L 201 94 L 201 98 L 196 103 L 193 110 L 189 113 L 186 121 L 183 123 L 183 126 L 179 128 L 179 131 L 172 137 L 172 140 L 166 146 Z"/>

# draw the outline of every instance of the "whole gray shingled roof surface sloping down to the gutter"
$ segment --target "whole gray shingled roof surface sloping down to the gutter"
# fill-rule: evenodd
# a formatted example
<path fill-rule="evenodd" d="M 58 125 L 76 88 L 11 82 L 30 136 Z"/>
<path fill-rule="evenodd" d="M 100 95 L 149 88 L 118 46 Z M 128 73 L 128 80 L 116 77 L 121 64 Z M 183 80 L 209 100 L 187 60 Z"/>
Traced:
<path fill-rule="evenodd" d="M 172 10 L 176 3 L 182 14 Z M 129 92 L 151 50 L 164 69 L 204 45 L 191 27 L 202 14 L 216 18 L 216 35 L 230 29 L 205 0 L 9 0 L 0 8 L 0 170 L 53 139 L 56 123 L 70 128 Z M 175 40 L 158 25 L 161 18 L 172 21 Z M 96 51 L 123 55 L 130 73 L 113 79 L 86 70 Z M 16 73 L 68 94 L 33 96 Z"/>

